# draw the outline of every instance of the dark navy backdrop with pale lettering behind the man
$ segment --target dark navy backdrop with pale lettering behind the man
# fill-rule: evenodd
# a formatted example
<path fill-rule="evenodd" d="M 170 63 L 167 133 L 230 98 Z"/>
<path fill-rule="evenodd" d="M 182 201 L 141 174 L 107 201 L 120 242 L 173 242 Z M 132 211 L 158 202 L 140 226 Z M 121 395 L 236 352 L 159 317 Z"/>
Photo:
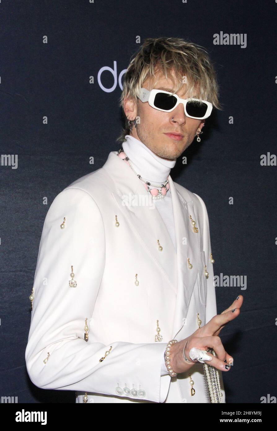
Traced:
<path fill-rule="evenodd" d="M 44 218 L 60 191 L 119 149 L 118 77 L 146 37 L 162 36 L 208 50 L 224 105 L 206 121 L 201 143 L 183 154 L 187 165 L 180 157 L 171 176 L 206 204 L 215 275 L 247 277 L 245 290 L 216 287 L 218 312 L 238 294 L 244 297 L 240 316 L 221 331 L 234 357 L 224 373 L 227 402 L 277 396 L 277 167 L 261 166 L 262 154 L 277 153 L 276 10 L 274 0 L 0 3 L 0 397 L 75 403 L 72 391 L 35 387 L 25 368 Z M 215 45 L 220 31 L 246 34 L 246 47 Z M 101 87 L 103 67 L 116 68 L 116 81 L 105 71 Z M 16 169 L 4 154 L 17 155 Z"/>

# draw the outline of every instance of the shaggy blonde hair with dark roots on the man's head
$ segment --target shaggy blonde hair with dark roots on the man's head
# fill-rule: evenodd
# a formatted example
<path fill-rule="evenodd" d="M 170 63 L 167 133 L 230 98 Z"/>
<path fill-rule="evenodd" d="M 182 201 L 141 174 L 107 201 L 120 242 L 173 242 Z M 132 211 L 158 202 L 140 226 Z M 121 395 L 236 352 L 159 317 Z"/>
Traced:
<path fill-rule="evenodd" d="M 179 84 L 172 89 L 173 94 L 176 94 L 185 83 L 187 98 L 197 97 L 207 100 L 215 108 L 222 109 L 218 101 L 219 86 L 214 67 L 208 53 L 200 45 L 178 37 L 147 38 L 132 57 L 125 73 L 119 101 L 125 126 L 116 141 L 124 142 L 125 135 L 130 133 L 128 119 L 124 113 L 124 98 L 130 97 L 138 103 L 143 82 L 152 76 L 156 77 L 155 72 L 159 68 L 166 79 L 168 75 L 173 78 L 171 72 L 174 70 Z"/>

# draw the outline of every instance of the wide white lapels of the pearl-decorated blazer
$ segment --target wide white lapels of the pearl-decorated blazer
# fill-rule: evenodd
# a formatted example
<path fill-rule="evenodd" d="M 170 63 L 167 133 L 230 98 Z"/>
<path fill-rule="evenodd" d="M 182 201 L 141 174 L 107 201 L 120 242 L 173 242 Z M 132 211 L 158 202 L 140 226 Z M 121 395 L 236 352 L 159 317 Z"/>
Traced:
<path fill-rule="evenodd" d="M 147 255 L 153 260 L 153 264 L 159 267 L 169 287 L 176 294 L 173 323 L 173 337 L 176 337 L 187 316 L 200 260 L 200 233 L 194 233 L 189 219 L 191 215 L 197 226 L 193 201 L 183 187 L 182 195 L 177 191 L 169 175 L 176 238 L 175 250 L 165 222 L 159 210 L 153 206 L 154 201 L 149 198 L 149 193 L 142 181 L 116 154 L 117 151 L 110 152 L 103 166 L 115 184 L 116 193 L 112 193 L 112 196 L 120 211 L 119 214 L 127 220 L 138 240 L 145 247 Z M 138 204 L 133 205 L 132 198 L 139 199 Z M 119 219 L 118 221 L 120 223 Z M 162 251 L 158 250 L 158 239 L 163 247 Z M 192 269 L 188 268 L 188 257 L 193 265 Z"/>

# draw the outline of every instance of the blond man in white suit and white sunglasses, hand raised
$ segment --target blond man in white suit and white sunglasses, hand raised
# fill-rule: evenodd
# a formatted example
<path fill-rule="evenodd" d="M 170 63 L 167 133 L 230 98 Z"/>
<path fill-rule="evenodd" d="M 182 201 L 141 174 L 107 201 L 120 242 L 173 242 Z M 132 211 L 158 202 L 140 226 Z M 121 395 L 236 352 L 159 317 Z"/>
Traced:
<path fill-rule="evenodd" d="M 205 204 L 170 176 L 217 88 L 205 51 L 182 39 L 146 39 L 131 61 L 121 149 L 44 222 L 25 353 L 38 387 L 75 390 L 77 403 L 225 403 L 233 358 L 218 334 L 243 298 L 217 315 Z"/>

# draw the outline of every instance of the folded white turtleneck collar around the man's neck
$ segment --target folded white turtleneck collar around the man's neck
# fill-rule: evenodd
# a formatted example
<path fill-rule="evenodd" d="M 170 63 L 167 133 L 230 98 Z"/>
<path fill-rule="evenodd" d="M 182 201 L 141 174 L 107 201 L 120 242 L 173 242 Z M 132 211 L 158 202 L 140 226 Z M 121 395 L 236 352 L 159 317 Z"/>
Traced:
<path fill-rule="evenodd" d="M 176 160 L 162 159 L 134 136 L 126 135 L 125 139 L 121 146 L 137 174 L 152 183 L 163 184 Z"/>

